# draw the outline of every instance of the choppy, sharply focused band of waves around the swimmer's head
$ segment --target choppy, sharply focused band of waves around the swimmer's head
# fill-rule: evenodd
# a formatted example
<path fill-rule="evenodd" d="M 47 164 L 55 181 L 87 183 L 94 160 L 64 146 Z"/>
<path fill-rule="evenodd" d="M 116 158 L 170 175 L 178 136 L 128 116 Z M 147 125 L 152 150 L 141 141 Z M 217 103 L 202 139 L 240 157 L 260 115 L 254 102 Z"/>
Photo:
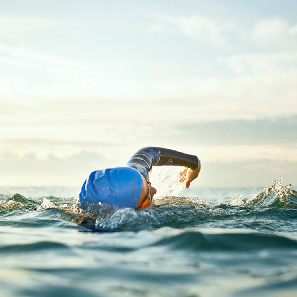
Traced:
<path fill-rule="evenodd" d="M 52 224 L 75 228 L 71 225 L 75 223 L 99 232 L 153 230 L 165 226 L 294 232 L 296 206 L 297 192 L 289 186 L 283 187 L 282 180 L 274 181 L 247 201 L 240 196 L 228 203 L 211 205 L 198 197 L 165 196 L 156 200 L 154 208 L 141 211 L 87 202 L 76 204 L 73 198 L 44 197 L 41 201 L 15 194 L 0 201 L 0 225 L 35 227 Z M 28 217 L 28 211 L 36 215 Z"/>

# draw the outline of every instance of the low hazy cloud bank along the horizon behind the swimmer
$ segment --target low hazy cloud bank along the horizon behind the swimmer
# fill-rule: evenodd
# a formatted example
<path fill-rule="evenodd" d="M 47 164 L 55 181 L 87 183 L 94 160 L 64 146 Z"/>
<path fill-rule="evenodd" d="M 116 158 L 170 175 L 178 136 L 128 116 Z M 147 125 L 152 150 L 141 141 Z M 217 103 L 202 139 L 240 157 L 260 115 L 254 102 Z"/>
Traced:
<path fill-rule="evenodd" d="M 45 160 L 38 159 L 35 154 L 27 154 L 22 158 L 11 153 L 0 154 L 0 186 L 80 187 L 91 171 L 108 167 L 112 167 L 110 160 L 86 151 L 68 158 L 49 155 Z M 297 162 L 282 160 L 203 161 L 201 173 L 193 186 L 266 187 L 280 176 L 284 183 L 293 184 L 295 181 L 292 177 L 296 176 L 296 170 Z"/>

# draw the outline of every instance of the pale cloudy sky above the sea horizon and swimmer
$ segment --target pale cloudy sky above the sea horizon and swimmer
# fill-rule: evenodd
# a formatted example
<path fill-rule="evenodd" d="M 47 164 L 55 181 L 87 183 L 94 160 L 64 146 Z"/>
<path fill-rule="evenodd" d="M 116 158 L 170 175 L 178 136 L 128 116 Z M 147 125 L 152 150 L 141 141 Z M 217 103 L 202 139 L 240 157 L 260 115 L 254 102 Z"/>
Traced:
<path fill-rule="evenodd" d="M 0 186 L 143 146 L 198 155 L 197 187 L 296 185 L 296 1 L 0 1 Z"/>

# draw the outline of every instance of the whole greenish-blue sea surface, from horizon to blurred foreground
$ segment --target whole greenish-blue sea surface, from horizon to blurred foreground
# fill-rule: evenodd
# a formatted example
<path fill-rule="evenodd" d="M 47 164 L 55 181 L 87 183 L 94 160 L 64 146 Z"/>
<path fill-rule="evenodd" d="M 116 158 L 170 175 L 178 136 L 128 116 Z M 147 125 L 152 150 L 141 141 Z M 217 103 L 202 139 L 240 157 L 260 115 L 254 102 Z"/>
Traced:
<path fill-rule="evenodd" d="M 297 192 L 281 180 L 141 211 L 78 192 L 0 188 L 0 296 L 297 296 Z"/>

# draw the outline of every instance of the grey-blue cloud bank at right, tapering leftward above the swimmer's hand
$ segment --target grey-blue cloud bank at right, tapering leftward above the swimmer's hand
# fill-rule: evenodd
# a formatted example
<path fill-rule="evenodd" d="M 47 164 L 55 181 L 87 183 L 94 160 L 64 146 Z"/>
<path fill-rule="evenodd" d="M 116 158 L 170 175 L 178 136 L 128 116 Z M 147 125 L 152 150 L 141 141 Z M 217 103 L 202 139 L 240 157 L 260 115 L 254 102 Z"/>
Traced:
<path fill-rule="evenodd" d="M 201 145 L 296 145 L 297 116 L 276 119 L 205 121 L 176 126 Z"/>

